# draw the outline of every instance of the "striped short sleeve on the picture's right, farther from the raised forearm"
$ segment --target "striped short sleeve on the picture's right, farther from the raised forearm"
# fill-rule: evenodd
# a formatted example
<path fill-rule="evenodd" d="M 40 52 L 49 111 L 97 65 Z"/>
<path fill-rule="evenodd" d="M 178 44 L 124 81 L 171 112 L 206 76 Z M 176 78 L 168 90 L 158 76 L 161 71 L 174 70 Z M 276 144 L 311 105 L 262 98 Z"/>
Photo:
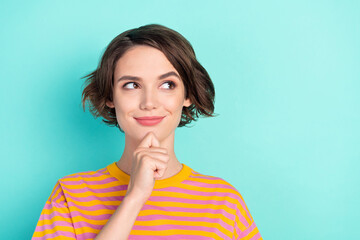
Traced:
<path fill-rule="evenodd" d="M 244 199 L 240 193 L 238 196 L 233 240 L 262 240 L 260 232 L 245 204 Z"/>

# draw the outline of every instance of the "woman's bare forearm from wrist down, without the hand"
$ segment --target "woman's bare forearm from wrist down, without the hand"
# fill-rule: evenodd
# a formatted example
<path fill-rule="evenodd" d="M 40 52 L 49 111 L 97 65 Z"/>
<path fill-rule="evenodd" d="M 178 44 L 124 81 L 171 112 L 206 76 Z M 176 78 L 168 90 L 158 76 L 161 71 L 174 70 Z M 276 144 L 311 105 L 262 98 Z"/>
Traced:
<path fill-rule="evenodd" d="M 125 196 L 94 240 L 127 240 L 144 203 L 140 198 Z"/>

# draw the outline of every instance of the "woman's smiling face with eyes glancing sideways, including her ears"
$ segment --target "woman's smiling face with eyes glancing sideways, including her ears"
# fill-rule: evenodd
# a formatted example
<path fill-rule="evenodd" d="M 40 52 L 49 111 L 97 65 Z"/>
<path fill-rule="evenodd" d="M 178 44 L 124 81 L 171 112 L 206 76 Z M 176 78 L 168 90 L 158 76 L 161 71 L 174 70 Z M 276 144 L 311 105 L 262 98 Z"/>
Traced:
<path fill-rule="evenodd" d="M 135 46 L 118 60 L 114 72 L 113 102 L 118 124 L 126 135 L 142 139 L 153 131 L 161 141 L 169 136 L 181 120 L 185 88 L 180 74 L 166 56 L 150 46 Z M 135 118 L 164 117 L 161 122 L 146 126 Z"/>

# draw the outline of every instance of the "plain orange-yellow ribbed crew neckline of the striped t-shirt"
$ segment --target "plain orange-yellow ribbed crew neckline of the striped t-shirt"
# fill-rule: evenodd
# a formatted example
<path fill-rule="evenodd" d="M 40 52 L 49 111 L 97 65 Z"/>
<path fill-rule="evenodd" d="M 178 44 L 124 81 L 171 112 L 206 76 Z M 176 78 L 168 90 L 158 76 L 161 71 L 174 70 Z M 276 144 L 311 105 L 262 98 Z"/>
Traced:
<path fill-rule="evenodd" d="M 187 179 L 191 174 L 191 168 L 184 163 L 182 163 L 181 165 L 182 168 L 177 174 L 165 179 L 155 180 L 154 189 L 174 186 Z M 113 162 L 110 165 L 108 165 L 107 169 L 111 176 L 115 177 L 121 182 L 125 182 L 126 184 L 129 184 L 130 175 L 122 171 L 117 166 L 116 162 Z"/>

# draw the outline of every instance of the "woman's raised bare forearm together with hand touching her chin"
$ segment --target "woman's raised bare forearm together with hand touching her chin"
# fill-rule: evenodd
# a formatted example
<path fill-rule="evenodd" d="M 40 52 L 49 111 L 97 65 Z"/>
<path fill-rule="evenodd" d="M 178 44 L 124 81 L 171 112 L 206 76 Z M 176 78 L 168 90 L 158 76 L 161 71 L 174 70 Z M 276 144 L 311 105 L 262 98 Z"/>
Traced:
<path fill-rule="evenodd" d="M 149 132 L 134 151 L 126 195 L 95 240 L 128 239 L 137 215 L 151 195 L 155 179 L 163 176 L 168 161 L 167 150 Z"/>

